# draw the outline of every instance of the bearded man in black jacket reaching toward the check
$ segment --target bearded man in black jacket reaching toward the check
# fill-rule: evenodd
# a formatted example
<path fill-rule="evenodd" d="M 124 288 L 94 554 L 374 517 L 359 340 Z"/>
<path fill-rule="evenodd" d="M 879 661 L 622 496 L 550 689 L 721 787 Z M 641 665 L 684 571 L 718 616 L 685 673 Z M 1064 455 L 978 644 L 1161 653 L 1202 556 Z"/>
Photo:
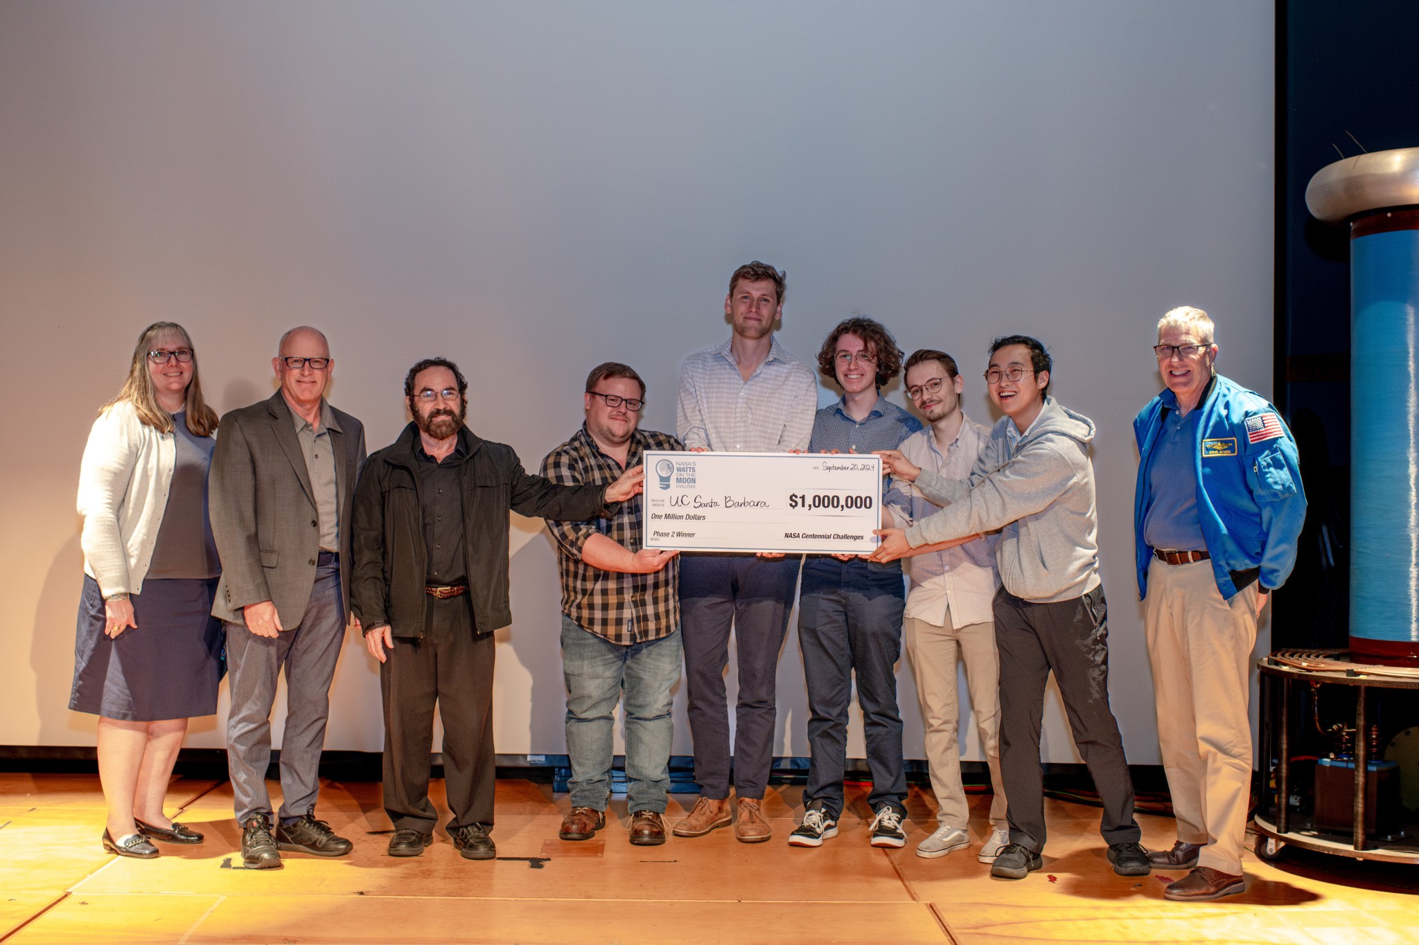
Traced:
<path fill-rule="evenodd" d="M 369 458 L 355 496 L 353 604 L 379 660 L 389 856 L 419 856 L 438 823 L 429 800 L 434 706 L 443 721 L 448 836 L 491 860 L 497 759 L 494 632 L 508 604 L 508 510 L 582 521 L 640 492 L 640 466 L 613 483 L 558 486 L 511 446 L 470 431 L 468 381 L 441 357 L 404 375 L 410 424 Z"/>

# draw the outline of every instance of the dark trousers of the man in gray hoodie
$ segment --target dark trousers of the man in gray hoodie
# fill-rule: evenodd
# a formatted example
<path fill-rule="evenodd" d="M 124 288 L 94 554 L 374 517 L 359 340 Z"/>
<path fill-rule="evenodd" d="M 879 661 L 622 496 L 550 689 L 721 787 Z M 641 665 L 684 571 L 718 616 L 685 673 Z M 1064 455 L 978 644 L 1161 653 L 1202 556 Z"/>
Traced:
<path fill-rule="evenodd" d="M 1100 833 L 1108 843 L 1137 843 L 1134 782 L 1124 740 L 1108 707 L 1108 606 L 1103 585 L 1053 604 L 1023 601 L 1005 588 L 995 595 L 995 643 L 1000 650 L 1000 779 L 1010 843 L 1044 849 L 1044 772 L 1040 727 L 1050 672 L 1064 697 L 1074 747 L 1104 805 Z"/>

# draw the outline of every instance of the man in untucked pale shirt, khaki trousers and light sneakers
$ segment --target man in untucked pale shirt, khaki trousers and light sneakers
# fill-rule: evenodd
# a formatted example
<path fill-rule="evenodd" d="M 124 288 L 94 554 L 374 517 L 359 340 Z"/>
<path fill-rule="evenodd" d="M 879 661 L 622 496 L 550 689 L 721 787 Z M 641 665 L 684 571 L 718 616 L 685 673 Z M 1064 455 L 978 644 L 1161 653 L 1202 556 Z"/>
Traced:
<path fill-rule="evenodd" d="M 945 351 L 922 349 L 907 358 L 907 397 L 931 426 L 904 439 L 898 449 L 908 462 L 942 479 L 966 479 L 990 436 L 989 426 L 976 424 L 961 409 L 964 385 L 956 360 Z M 901 528 L 941 509 L 915 483 L 900 477 L 893 479 L 887 507 Z M 995 788 L 990 836 L 976 859 L 995 863 L 996 854 L 1010 843 L 1000 778 L 1000 659 L 992 613 L 992 601 L 1000 587 L 995 567 L 996 540 L 993 533 L 972 536 L 952 548 L 938 547 L 902 558 L 911 578 L 904 635 L 927 724 L 927 759 L 937 795 L 937 830 L 917 844 L 917 856 L 927 859 L 946 856 L 971 842 L 966 833 L 971 809 L 961 783 L 958 748 L 958 656 L 966 667 L 976 734 Z"/>

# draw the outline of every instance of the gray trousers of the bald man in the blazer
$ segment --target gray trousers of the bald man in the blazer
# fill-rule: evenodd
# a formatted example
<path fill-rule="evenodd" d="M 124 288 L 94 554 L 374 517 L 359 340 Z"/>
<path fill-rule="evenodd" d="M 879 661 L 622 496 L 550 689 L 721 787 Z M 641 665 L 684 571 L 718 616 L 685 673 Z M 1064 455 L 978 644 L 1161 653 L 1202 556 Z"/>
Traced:
<path fill-rule="evenodd" d="M 231 713 L 227 715 L 227 766 L 237 822 L 271 812 L 265 786 L 271 764 L 271 707 L 285 669 L 285 731 L 281 735 L 281 817 L 315 810 L 321 749 L 331 711 L 331 680 L 345 638 L 339 564 L 315 572 L 311 602 L 299 626 L 280 636 L 257 636 L 241 623 L 227 623 L 227 672 Z"/>

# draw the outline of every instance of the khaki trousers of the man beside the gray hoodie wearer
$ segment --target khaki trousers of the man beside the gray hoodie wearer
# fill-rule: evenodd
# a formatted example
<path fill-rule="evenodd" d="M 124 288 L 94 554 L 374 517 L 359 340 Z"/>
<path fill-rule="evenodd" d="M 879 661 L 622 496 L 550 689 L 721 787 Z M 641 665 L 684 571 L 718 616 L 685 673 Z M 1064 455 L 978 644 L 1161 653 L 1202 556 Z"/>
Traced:
<path fill-rule="evenodd" d="M 946 611 L 946 625 L 907 618 L 902 622 L 907 655 L 917 676 L 917 698 L 925 721 L 927 762 L 931 789 L 937 795 L 937 820 L 965 829 L 971 822 L 966 792 L 961 783 L 961 747 L 958 721 L 961 700 L 956 694 L 956 659 L 966 663 L 966 687 L 975 708 L 976 732 L 990 769 L 990 827 L 1009 829 L 1006 822 L 1005 781 L 1000 778 L 1000 657 L 995 647 L 995 623 L 968 623 L 956 628 Z"/>

